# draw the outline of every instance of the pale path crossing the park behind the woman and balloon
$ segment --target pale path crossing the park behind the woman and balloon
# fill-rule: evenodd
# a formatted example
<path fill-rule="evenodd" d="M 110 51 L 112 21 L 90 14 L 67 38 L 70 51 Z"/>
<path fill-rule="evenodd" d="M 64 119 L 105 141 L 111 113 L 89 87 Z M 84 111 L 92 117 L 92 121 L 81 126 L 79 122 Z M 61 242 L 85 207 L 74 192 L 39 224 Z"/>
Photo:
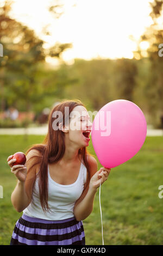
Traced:
<path fill-rule="evenodd" d="M 28 127 L 25 128 L 1 128 L 0 135 L 46 135 L 48 131 L 48 125 L 39 127 Z M 161 129 L 148 129 L 147 136 L 163 136 L 163 130 Z"/>

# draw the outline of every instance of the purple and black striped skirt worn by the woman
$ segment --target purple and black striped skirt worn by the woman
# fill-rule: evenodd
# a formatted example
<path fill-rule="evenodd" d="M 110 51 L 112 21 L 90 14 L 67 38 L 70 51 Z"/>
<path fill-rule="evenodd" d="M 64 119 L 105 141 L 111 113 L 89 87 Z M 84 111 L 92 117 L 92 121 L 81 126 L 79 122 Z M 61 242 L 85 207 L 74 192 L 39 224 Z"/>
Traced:
<path fill-rule="evenodd" d="M 10 245 L 85 245 L 83 222 L 75 217 L 50 221 L 23 214 L 15 224 Z"/>

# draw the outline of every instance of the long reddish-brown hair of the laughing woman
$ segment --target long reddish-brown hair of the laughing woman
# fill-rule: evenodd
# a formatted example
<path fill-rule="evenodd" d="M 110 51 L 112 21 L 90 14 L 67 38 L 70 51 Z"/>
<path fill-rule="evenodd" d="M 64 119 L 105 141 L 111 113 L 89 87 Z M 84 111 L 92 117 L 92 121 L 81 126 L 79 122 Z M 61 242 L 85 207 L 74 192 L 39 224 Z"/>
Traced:
<path fill-rule="evenodd" d="M 61 130 L 54 130 L 52 127 L 52 123 L 55 120 L 55 117 L 53 117 L 54 111 L 60 111 L 62 112 L 62 125 L 65 125 L 65 123 L 70 120 L 70 113 L 72 112 L 73 108 L 76 106 L 83 106 L 83 103 L 80 100 L 62 100 L 58 105 L 55 105 L 51 112 L 49 113 L 48 117 L 48 133 L 43 141 L 42 144 L 33 144 L 32 147 L 30 147 L 26 151 L 27 153 L 35 149 L 39 151 L 41 154 L 40 156 L 32 156 L 36 157 L 38 161 L 34 161 L 33 166 L 35 164 L 40 164 L 40 171 L 37 175 L 39 175 L 39 194 L 40 194 L 40 203 L 42 206 L 43 211 L 49 211 L 48 206 L 48 163 L 56 163 L 58 162 L 65 153 L 65 133 Z M 69 116 L 65 116 L 65 107 L 69 107 L 68 114 Z M 87 182 L 86 185 L 90 182 L 90 166 L 89 162 L 87 161 L 87 155 L 90 154 L 86 147 L 80 148 L 78 151 L 79 159 L 83 159 L 85 167 L 87 169 Z M 32 158 L 31 157 L 31 158 Z M 30 160 L 30 159 L 29 159 Z M 32 169 L 31 166 L 28 170 L 30 172 L 30 169 Z M 86 186 L 85 186 L 86 188 Z M 85 189 L 84 188 L 84 189 Z"/>

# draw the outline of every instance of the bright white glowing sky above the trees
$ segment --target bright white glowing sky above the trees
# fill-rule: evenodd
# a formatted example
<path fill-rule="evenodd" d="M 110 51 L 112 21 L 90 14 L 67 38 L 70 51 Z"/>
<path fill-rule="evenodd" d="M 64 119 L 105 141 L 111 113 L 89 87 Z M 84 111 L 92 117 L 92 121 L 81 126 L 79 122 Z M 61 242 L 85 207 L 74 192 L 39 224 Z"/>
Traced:
<path fill-rule="evenodd" d="M 136 42 L 153 23 L 149 2 L 153 1 L 62 0 L 64 14 L 55 19 L 48 11 L 48 7 L 56 3 L 54 0 L 14 0 L 11 15 L 34 29 L 46 42 L 45 48 L 56 42 L 71 42 L 73 47 L 62 53 L 62 58 L 67 64 L 73 64 L 74 58 L 133 58 Z M 44 27 L 51 35 L 42 33 Z M 142 44 L 144 49 L 147 46 Z M 57 64 L 56 58 L 46 61 Z"/>

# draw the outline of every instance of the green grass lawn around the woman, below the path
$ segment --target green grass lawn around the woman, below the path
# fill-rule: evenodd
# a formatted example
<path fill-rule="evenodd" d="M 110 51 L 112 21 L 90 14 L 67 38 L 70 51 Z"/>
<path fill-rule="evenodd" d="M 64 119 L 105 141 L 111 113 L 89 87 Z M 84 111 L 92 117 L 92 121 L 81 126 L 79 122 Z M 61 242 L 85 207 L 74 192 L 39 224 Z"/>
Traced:
<path fill-rule="evenodd" d="M 30 135 L 24 141 L 21 135 L 0 136 L 0 185 L 3 186 L 0 245 L 9 245 L 14 225 L 22 215 L 11 204 L 16 178 L 10 172 L 7 157 L 17 151 L 25 152 L 32 144 L 42 143 L 43 137 Z M 95 155 L 91 141 L 88 150 Z M 163 185 L 162 156 L 163 137 L 147 137 L 133 159 L 112 168 L 108 180 L 101 187 L 104 245 L 163 244 L 163 198 L 158 197 L 158 188 Z M 98 169 L 101 167 L 98 162 Z M 86 245 L 102 245 L 99 189 L 93 211 L 83 224 Z"/>

